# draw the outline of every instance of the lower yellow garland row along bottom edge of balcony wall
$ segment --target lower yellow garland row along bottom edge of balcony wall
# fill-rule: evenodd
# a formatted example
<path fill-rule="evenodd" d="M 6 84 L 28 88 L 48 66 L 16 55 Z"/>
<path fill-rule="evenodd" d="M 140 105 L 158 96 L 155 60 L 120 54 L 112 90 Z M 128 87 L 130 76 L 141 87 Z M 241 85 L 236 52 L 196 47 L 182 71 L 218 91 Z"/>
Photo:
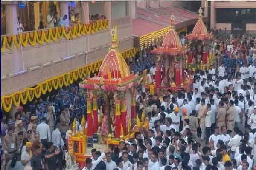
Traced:
<path fill-rule="evenodd" d="M 134 57 L 137 51 L 139 51 L 138 48 L 129 48 L 128 50 L 122 51 L 121 53 L 124 58 L 130 58 Z M 47 79 L 44 82 L 39 83 L 34 88 L 26 88 L 23 91 L 14 92 L 9 96 L 2 96 L 1 107 L 3 107 L 4 111 L 9 112 L 12 108 L 12 104 L 19 106 L 21 102 L 23 105 L 25 105 L 28 101 L 31 102 L 34 97 L 39 98 L 41 94 L 46 94 L 47 91 L 51 92 L 52 88 L 56 90 L 58 88 L 62 88 L 63 86 L 71 85 L 78 78 L 81 79 L 86 75 L 90 75 L 90 73 L 99 71 L 102 61 L 103 59 L 84 67 L 77 68 L 76 70 L 70 71 L 60 76 Z"/>

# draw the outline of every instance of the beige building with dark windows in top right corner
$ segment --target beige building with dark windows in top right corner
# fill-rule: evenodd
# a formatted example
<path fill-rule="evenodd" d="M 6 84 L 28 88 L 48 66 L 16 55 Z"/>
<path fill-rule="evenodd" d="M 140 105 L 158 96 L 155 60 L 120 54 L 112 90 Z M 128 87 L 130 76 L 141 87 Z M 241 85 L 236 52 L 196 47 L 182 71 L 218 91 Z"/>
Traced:
<path fill-rule="evenodd" d="M 233 34 L 256 34 L 256 2 L 202 1 L 210 28 L 227 30 Z"/>

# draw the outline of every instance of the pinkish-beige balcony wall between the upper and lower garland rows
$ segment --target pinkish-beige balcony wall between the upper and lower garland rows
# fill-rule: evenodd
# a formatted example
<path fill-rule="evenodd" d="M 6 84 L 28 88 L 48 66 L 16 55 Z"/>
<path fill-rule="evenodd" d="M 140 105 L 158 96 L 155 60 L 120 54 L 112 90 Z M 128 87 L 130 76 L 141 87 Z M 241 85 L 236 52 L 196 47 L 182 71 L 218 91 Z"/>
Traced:
<path fill-rule="evenodd" d="M 124 7 L 128 8 L 128 3 L 124 5 L 124 3 L 115 2 L 114 4 L 117 4 L 114 5 L 114 8 L 121 8 L 121 6 L 122 10 Z M 134 41 L 131 35 L 131 19 L 128 15 L 122 17 L 124 14 L 130 14 L 131 12 L 122 13 L 122 11 L 119 11 L 119 13 L 114 13 L 114 15 L 121 17 L 112 20 L 111 6 L 108 6 L 106 2 L 102 3 L 102 6 L 105 11 L 97 13 L 105 14 L 107 19 L 109 17 L 110 29 L 71 40 L 63 38 L 50 41 L 48 44 L 28 45 L 26 48 L 17 49 L 14 47 L 13 50 L 5 48 L 5 51 L 1 53 L 2 95 L 21 91 L 24 88 L 37 85 L 45 79 L 103 59 L 111 45 L 113 24 L 118 25 L 119 51 L 132 48 Z M 17 69 L 17 65 L 20 65 L 21 69 Z"/>

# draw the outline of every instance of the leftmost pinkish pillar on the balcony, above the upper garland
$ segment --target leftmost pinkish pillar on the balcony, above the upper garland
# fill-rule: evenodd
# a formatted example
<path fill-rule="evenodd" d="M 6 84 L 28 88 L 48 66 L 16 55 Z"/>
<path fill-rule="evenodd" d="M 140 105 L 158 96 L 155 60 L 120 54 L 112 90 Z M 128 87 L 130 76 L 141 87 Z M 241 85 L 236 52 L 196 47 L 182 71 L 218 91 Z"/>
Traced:
<path fill-rule="evenodd" d="M 19 27 L 17 22 L 17 4 L 8 3 L 5 5 L 6 11 L 6 34 L 17 34 Z"/>

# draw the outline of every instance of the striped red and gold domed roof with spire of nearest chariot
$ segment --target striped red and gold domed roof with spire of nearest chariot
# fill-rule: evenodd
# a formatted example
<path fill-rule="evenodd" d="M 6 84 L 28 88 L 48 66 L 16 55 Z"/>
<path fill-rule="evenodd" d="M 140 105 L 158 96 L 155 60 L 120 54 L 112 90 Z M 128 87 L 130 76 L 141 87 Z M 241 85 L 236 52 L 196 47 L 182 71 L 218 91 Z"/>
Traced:
<path fill-rule="evenodd" d="M 125 91 L 137 85 L 141 77 L 130 74 L 130 69 L 118 49 L 117 26 L 111 31 L 111 48 L 104 58 L 99 73 L 86 83 L 83 87 L 87 89 L 102 89 L 105 91 Z"/>

